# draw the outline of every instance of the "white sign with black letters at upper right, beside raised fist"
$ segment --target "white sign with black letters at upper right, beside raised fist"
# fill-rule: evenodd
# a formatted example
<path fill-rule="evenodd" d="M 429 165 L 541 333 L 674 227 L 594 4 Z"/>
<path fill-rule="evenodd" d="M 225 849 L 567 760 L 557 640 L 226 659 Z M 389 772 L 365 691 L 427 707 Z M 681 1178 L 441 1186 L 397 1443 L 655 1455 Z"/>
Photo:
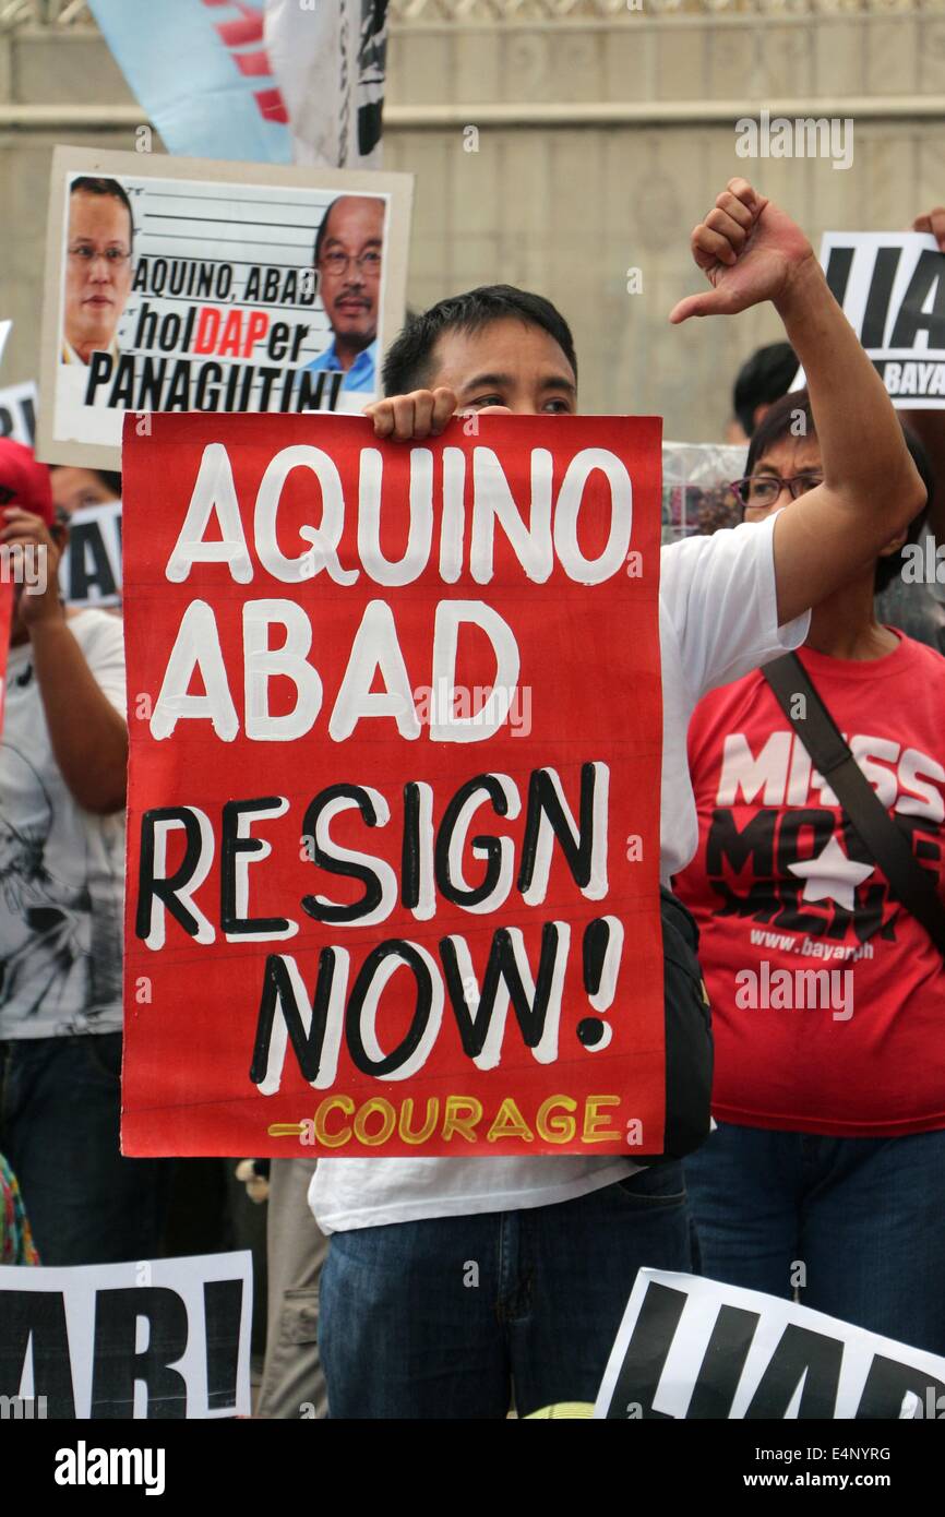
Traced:
<path fill-rule="evenodd" d="M 898 410 L 945 410 L 945 253 L 928 232 L 825 232 L 834 299 Z M 798 370 L 792 390 L 798 390 Z"/>

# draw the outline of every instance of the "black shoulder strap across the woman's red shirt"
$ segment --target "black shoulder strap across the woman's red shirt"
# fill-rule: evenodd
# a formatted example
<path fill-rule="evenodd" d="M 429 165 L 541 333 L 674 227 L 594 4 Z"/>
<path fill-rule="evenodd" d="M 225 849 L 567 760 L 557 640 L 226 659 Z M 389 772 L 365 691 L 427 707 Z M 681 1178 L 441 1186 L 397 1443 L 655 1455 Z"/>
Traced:
<path fill-rule="evenodd" d="M 852 757 L 804 664 L 796 654 L 787 654 L 766 664 L 761 674 L 816 769 L 830 781 L 852 827 L 883 869 L 893 895 L 922 924 L 939 953 L 945 956 L 945 907 L 934 877 L 916 862 L 909 839 L 896 827 Z M 804 716 L 795 716 L 792 711 L 798 695 L 804 696 L 801 707 Z"/>

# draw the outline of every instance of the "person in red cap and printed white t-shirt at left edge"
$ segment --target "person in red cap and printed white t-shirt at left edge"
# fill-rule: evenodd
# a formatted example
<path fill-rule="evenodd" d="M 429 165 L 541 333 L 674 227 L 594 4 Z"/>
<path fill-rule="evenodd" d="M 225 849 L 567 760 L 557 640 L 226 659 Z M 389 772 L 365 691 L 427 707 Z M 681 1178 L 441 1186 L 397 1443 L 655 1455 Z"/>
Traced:
<path fill-rule="evenodd" d="M 0 440 L 0 1150 L 46 1265 L 153 1258 L 168 1168 L 118 1141 L 124 637 L 67 611 L 49 469 Z M 29 579 L 17 566 L 27 567 Z"/>

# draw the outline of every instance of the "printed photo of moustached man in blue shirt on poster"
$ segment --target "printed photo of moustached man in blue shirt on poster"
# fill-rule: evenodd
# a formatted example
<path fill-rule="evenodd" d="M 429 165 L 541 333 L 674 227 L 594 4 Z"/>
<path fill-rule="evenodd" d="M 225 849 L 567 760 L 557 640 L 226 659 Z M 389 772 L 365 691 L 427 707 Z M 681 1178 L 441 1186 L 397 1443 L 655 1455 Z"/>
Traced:
<path fill-rule="evenodd" d="M 316 237 L 319 294 L 334 341 L 308 369 L 340 370 L 343 390 L 376 388 L 384 211 L 378 196 L 338 196 Z"/>

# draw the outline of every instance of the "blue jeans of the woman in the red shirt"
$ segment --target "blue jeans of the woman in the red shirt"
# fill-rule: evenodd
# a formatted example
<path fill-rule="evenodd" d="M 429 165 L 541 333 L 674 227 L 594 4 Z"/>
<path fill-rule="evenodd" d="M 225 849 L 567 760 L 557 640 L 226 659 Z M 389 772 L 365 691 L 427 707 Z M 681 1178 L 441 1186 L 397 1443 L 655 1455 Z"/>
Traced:
<path fill-rule="evenodd" d="M 699 1271 L 945 1353 L 945 1132 L 722 1123 L 686 1161 Z"/>

